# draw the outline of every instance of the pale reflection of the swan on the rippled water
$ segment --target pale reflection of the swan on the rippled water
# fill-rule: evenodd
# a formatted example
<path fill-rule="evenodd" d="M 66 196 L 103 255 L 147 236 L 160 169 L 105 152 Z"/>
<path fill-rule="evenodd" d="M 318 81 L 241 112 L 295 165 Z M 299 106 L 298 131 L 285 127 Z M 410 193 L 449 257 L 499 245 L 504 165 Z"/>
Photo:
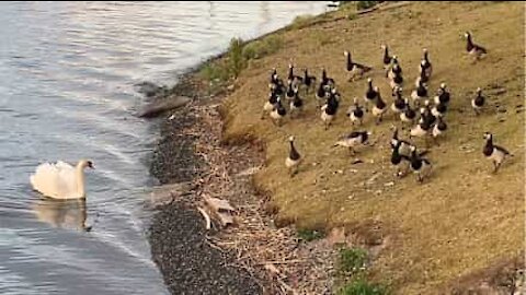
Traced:
<path fill-rule="evenodd" d="M 39 221 L 54 227 L 91 231 L 91 226 L 85 225 L 88 211 L 84 198 L 72 200 L 41 198 L 34 202 L 33 212 Z"/>

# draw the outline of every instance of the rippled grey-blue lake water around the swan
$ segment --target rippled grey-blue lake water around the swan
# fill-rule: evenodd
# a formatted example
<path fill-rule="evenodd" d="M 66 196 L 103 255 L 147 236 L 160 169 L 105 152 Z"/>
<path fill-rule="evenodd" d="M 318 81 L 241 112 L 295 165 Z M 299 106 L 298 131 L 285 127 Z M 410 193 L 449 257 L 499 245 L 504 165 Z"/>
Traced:
<path fill-rule="evenodd" d="M 237 35 L 322 2 L 1 2 L 0 294 L 165 294 L 146 239 L 157 130 L 134 84 L 173 84 Z M 88 198 L 34 192 L 42 162 L 93 160 Z M 91 232 L 81 231 L 85 219 Z"/>

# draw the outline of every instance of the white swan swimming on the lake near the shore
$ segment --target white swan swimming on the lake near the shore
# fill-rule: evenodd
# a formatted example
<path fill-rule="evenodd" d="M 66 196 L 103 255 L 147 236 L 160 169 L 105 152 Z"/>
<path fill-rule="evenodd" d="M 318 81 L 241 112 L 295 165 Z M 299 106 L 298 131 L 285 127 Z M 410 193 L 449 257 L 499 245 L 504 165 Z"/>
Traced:
<path fill-rule="evenodd" d="M 77 167 L 58 161 L 44 163 L 36 167 L 30 177 L 33 189 L 55 199 L 79 199 L 85 197 L 84 168 L 93 168 L 91 161 L 81 160 Z"/>

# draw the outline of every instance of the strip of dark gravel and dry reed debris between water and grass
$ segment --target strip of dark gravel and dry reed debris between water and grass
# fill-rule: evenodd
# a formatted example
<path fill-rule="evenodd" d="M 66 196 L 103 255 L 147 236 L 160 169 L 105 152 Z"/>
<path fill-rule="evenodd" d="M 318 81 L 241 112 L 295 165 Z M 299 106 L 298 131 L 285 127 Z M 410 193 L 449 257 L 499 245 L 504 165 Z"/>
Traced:
<path fill-rule="evenodd" d="M 204 64 L 171 91 L 192 102 L 158 118 L 161 140 L 151 173 L 171 191 L 156 205 L 148 238 L 167 287 L 173 294 L 332 294 L 330 241 L 304 243 L 294 228 L 274 224 L 275 208 L 252 182 L 264 146 L 221 142 L 226 90 L 209 96 L 206 86 L 196 87 L 195 74 Z M 178 190 L 178 184 L 190 189 Z M 237 209 L 235 225 L 207 232 L 196 209 L 204 196 L 228 200 Z"/>

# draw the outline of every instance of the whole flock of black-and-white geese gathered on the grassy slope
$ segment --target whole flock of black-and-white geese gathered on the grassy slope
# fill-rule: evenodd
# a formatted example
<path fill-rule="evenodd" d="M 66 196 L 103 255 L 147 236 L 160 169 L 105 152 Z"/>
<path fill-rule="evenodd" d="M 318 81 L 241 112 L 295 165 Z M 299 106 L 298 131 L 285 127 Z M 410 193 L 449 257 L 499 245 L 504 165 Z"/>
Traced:
<path fill-rule="evenodd" d="M 466 32 L 466 52 L 472 58 L 472 62 L 481 60 L 488 50 L 481 45 L 474 44 L 471 33 Z M 411 87 L 409 97 L 404 96 L 404 84 L 407 80 L 403 76 L 402 66 L 398 56 L 390 52 L 387 45 L 381 45 L 382 50 L 382 68 L 385 78 L 391 88 L 392 102 L 386 102 L 380 93 L 378 85 L 371 78 L 367 78 L 366 91 L 363 98 L 354 97 L 352 105 L 346 111 L 353 128 L 364 125 L 366 117 L 374 118 L 376 125 L 382 123 L 388 118 L 395 122 L 400 122 L 403 130 L 409 130 L 408 139 L 399 138 L 399 130 L 391 122 L 393 132 L 390 139 L 391 164 L 396 167 L 396 176 L 402 177 L 410 172 L 416 175 L 416 180 L 423 182 L 431 176 L 433 164 L 425 157 L 431 146 L 430 141 L 435 145 L 439 145 L 441 139 L 444 138 L 448 130 L 447 114 L 451 101 L 450 90 L 446 83 L 441 83 L 436 90 L 436 94 L 428 88 L 428 82 L 433 76 L 433 63 L 430 59 L 430 51 L 423 48 L 421 62 L 419 63 L 419 74 Z M 373 67 L 358 63 L 352 57 L 350 51 L 344 51 L 345 70 L 347 81 L 359 81 L 367 73 L 371 72 Z M 288 76 L 286 83 L 279 79 L 276 69 L 273 69 L 270 79 L 270 94 L 263 106 L 262 119 L 265 115 L 272 118 L 273 122 L 281 127 L 287 114 L 291 119 L 301 115 L 305 107 L 304 98 L 301 98 L 300 90 L 304 90 L 305 97 L 310 96 L 315 90 L 313 97 L 318 103 L 319 118 L 324 129 L 329 129 L 339 114 L 342 102 L 342 95 L 336 88 L 334 79 L 330 78 L 327 70 L 321 69 L 321 78 L 309 75 L 308 69 L 304 69 L 304 75 L 296 75 L 294 64 L 290 62 L 288 67 Z M 282 97 L 288 101 L 289 108 L 285 108 Z M 476 116 L 479 116 L 487 105 L 487 99 L 480 87 L 476 91 L 476 96 L 471 98 L 471 107 Z M 389 116 L 392 115 L 392 116 Z M 334 146 L 344 146 L 348 149 L 351 154 L 355 154 L 359 146 L 371 149 L 370 130 L 353 130 L 348 134 L 339 138 Z M 426 150 L 419 151 L 416 144 L 412 143 L 413 139 L 421 139 L 425 142 Z M 485 144 L 482 154 L 485 158 L 493 163 L 493 173 L 496 173 L 504 160 L 512 155 L 504 148 L 493 144 L 493 134 L 485 132 L 483 135 Z M 285 166 L 289 169 L 293 177 L 298 173 L 298 166 L 301 163 L 301 155 L 296 149 L 295 137 L 290 137 L 289 153 L 286 157 Z"/>

